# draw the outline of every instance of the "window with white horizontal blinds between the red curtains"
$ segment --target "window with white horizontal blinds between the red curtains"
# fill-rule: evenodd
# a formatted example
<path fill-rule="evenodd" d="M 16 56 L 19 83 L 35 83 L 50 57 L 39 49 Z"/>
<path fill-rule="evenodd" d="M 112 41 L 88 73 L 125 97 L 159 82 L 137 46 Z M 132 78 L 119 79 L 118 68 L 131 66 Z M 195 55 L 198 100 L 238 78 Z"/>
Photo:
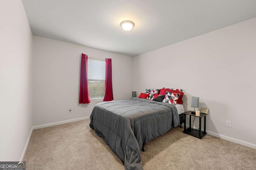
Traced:
<path fill-rule="evenodd" d="M 105 95 L 105 60 L 88 58 L 88 87 L 90 99 L 103 99 Z"/>

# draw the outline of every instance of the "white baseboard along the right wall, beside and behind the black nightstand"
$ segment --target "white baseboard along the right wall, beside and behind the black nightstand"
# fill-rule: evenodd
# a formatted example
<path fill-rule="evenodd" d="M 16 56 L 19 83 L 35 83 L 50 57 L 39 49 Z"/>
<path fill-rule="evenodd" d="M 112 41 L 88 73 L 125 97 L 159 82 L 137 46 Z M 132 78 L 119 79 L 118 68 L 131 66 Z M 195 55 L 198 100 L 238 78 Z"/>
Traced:
<path fill-rule="evenodd" d="M 189 127 L 189 125 L 186 125 L 186 127 Z M 193 128 L 193 129 L 198 129 L 198 127 L 192 127 L 192 128 Z M 202 129 L 202 131 L 204 131 L 204 129 Z M 244 146 L 246 146 L 246 147 L 250 147 L 250 148 L 256 149 L 256 145 L 253 144 L 253 143 L 249 143 L 249 142 L 246 142 L 246 141 L 241 141 L 241 140 L 239 140 L 239 139 L 235 139 L 235 138 L 228 137 L 228 136 L 225 136 L 225 135 L 220 135 L 220 134 L 218 134 L 218 133 L 214 133 L 214 132 L 207 131 L 207 130 L 206 130 L 206 133 L 208 133 L 209 135 L 218 137 L 218 138 L 220 138 L 220 139 L 224 139 L 224 140 L 226 140 L 226 141 L 238 143 L 238 144 L 240 144 L 240 145 L 244 145 Z"/>

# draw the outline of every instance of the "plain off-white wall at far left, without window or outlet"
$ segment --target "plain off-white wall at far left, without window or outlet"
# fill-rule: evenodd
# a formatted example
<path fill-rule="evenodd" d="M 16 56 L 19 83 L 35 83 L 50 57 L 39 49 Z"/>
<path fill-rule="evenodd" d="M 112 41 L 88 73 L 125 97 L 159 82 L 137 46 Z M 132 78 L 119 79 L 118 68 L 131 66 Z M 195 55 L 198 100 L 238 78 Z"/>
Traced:
<path fill-rule="evenodd" d="M 19 161 L 32 129 L 32 33 L 20 0 L 0 1 L 0 161 Z"/>

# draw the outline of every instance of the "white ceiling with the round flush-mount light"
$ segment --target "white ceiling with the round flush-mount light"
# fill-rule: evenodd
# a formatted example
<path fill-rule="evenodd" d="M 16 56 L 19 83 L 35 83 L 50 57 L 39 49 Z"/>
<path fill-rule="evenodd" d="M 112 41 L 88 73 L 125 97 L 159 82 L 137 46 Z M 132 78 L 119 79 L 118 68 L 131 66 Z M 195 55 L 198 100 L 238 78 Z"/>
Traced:
<path fill-rule="evenodd" d="M 33 35 L 136 56 L 256 18 L 256 0 L 22 0 Z M 124 31 L 120 22 L 135 23 Z"/>

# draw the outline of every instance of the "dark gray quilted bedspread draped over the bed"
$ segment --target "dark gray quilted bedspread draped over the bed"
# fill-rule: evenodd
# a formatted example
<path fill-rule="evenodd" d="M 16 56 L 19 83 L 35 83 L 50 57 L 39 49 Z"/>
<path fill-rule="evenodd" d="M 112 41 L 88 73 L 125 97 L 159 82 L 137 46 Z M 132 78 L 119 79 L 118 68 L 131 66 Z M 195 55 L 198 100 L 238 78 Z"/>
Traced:
<path fill-rule="evenodd" d="M 126 170 L 143 169 L 142 145 L 180 122 L 174 105 L 140 98 L 96 104 L 90 119 L 90 127 L 124 162 Z"/>

